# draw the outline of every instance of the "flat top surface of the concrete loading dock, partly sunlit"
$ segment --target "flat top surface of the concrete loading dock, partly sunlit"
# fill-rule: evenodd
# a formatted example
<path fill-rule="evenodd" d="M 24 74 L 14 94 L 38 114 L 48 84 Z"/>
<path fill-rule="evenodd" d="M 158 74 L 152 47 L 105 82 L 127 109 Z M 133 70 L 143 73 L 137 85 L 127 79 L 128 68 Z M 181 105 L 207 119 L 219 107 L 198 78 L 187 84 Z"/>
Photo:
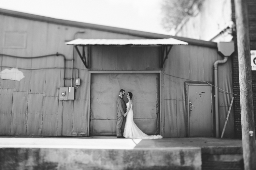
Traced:
<path fill-rule="evenodd" d="M 163 138 L 125 139 L 114 136 L 22 137 L 0 136 L 0 148 L 137 149 L 173 147 L 242 147 L 240 139 Z"/>

